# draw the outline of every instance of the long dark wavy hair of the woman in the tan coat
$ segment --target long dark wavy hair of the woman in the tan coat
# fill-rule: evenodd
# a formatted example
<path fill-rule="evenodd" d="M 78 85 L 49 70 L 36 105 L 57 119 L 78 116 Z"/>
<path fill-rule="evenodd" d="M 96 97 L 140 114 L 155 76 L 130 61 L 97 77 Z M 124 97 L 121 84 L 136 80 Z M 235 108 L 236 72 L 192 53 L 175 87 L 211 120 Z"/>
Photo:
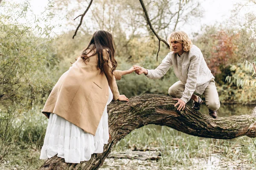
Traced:
<path fill-rule="evenodd" d="M 95 50 L 96 49 L 96 50 Z M 103 60 L 103 49 L 108 49 L 106 52 L 108 52 L 108 59 L 107 61 Z M 89 58 L 87 54 L 89 54 L 91 51 L 95 51 L 93 55 L 98 55 L 98 67 L 101 70 L 101 73 L 103 72 L 103 65 L 105 62 L 108 62 L 108 60 L 112 63 L 112 74 L 113 71 L 116 69 L 117 62 L 114 58 L 115 49 L 113 46 L 113 37 L 111 33 L 103 30 L 99 30 L 94 32 L 93 36 L 90 39 L 90 42 L 88 46 L 83 50 L 81 54 L 81 58 L 83 58 L 84 63 L 89 61 Z"/>

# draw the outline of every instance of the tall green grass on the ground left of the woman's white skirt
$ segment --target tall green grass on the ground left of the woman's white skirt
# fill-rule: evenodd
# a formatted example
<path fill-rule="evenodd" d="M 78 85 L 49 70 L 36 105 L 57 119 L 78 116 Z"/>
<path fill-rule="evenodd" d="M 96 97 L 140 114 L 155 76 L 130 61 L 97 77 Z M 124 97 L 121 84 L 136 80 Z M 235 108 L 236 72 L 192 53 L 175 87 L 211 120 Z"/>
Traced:
<path fill-rule="evenodd" d="M 35 170 L 47 128 L 40 108 L 0 114 L 0 170 Z"/>

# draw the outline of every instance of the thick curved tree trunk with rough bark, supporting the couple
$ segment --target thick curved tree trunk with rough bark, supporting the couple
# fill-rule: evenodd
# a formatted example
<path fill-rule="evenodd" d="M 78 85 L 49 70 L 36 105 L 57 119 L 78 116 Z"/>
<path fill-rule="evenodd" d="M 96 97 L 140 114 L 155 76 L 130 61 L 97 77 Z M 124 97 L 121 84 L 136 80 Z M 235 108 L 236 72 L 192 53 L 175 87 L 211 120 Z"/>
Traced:
<path fill-rule="evenodd" d="M 129 102 L 114 101 L 108 106 L 108 122 L 111 138 L 104 152 L 93 154 L 89 161 L 81 164 L 65 163 L 57 156 L 48 159 L 40 170 L 98 170 L 111 152 L 114 144 L 147 124 L 168 126 L 189 135 L 205 138 L 232 139 L 239 136 L 256 137 L 256 117 L 239 115 L 211 118 L 186 106 L 184 111 L 174 107 L 177 101 L 166 95 L 145 94 Z"/>

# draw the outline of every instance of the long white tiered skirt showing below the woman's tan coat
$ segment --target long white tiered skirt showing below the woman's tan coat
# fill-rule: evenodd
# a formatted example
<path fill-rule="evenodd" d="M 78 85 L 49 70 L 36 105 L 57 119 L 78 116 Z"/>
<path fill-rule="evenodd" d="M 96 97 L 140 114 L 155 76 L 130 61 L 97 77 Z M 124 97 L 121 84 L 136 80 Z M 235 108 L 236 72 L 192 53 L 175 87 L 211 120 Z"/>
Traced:
<path fill-rule="evenodd" d="M 112 99 L 113 94 L 109 88 L 107 105 Z M 52 158 L 58 154 L 57 156 L 64 158 L 67 163 L 80 163 L 90 160 L 93 153 L 102 153 L 103 146 L 108 144 L 109 139 L 107 105 L 95 136 L 51 113 L 40 159 Z"/>

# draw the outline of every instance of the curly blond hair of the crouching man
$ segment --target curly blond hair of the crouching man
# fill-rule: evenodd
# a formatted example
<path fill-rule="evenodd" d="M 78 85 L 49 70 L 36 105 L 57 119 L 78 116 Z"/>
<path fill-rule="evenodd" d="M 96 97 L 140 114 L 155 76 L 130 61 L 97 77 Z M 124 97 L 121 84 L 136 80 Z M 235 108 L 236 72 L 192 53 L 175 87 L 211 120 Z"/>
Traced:
<path fill-rule="evenodd" d="M 175 41 L 178 41 L 179 43 L 182 43 L 183 44 L 183 50 L 185 52 L 188 52 L 192 47 L 192 41 L 190 40 L 189 36 L 183 31 L 175 31 L 175 32 L 172 32 L 168 36 L 167 41 L 170 45 L 170 51 L 172 51 L 172 44 L 171 44 L 172 40 L 175 40 Z"/>

